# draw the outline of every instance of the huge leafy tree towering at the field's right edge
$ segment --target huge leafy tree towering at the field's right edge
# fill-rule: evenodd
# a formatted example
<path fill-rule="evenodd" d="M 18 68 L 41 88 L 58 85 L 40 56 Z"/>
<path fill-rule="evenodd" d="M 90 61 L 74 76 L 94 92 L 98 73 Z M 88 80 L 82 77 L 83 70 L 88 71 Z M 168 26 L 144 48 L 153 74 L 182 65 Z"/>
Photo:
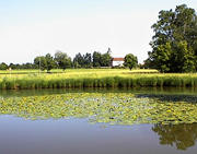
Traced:
<path fill-rule="evenodd" d="M 144 63 L 161 72 L 193 72 L 197 69 L 197 15 L 187 5 L 160 11 L 152 25 L 152 51 Z"/>

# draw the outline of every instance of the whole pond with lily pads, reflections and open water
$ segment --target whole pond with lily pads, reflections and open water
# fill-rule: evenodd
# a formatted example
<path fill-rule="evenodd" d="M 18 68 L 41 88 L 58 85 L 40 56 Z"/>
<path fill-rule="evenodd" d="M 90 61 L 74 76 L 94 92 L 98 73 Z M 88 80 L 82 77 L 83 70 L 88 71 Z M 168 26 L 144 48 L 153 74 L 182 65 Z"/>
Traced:
<path fill-rule="evenodd" d="M 197 90 L 0 92 L 2 154 L 194 154 Z"/>

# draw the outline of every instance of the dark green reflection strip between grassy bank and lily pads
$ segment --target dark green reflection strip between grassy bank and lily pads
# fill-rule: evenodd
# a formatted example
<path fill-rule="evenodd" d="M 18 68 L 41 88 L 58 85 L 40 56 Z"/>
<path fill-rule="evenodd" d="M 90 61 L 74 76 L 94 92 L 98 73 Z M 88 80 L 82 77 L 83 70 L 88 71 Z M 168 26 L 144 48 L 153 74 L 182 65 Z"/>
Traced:
<path fill-rule="evenodd" d="M 186 87 L 132 87 L 132 88 L 49 88 L 49 90 L 2 90 L 0 96 L 40 96 L 66 93 L 132 93 L 137 95 L 197 95 L 197 88 Z"/>

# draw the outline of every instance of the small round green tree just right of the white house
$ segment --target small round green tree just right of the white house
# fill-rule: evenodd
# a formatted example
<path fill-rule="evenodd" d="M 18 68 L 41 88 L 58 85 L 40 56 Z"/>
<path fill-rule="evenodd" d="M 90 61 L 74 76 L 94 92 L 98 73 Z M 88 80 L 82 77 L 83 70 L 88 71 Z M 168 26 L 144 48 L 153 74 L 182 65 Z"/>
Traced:
<path fill-rule="evenodd" d="M 124 66 L 128 67 L 130 70 L 136 68 L 138 66 L 138 58 L 132 54 L 126 55 Z"/>

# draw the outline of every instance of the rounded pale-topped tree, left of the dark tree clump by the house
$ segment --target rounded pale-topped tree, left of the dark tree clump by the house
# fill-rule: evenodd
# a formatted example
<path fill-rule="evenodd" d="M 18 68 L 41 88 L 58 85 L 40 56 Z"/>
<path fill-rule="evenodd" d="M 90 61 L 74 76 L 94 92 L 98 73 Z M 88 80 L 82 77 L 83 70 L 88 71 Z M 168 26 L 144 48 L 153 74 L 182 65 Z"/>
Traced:
<path fill-rule="evenodd" d="M 57 51 L 55 54 L 55 61 L 58 64 L 58 68 L 62 69 L 63 71 L 67 68 L 71 68 L 71 58 L 68 57 L 68 55 L 66 52 L 62 51 Z"/>

